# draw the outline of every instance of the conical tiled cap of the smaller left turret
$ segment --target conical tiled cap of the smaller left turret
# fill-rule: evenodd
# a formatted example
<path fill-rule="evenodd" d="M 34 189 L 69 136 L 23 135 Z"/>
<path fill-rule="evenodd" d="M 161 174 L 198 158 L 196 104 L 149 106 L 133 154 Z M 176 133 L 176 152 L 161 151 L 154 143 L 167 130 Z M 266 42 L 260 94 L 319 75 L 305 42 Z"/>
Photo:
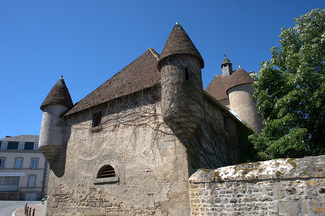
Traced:
<path fill-rule="evenodd" d="M 69 108 L 73 107 L 73 102 L 69 93 L 69 90 L 66 86 L 66 83 L 64 83 L 64 80 L 62 76 L 60 79 L 56 82 L 56 84 L 51 89 L 50 93 L 46 96 L 45 100 L 43 101 L 40 109 L 44 111 L 45 105 L 50 104 L 59 104 L 64 105 Z"/>

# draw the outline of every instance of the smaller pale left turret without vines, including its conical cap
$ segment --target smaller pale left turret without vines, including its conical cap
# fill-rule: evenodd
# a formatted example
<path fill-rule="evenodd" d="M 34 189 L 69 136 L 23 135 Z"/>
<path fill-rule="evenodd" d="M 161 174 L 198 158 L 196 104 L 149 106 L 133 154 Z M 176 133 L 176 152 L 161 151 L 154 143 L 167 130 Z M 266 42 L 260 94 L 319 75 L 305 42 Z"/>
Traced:
<path fill-rule="evenodd" d="M 69 90 L 62 76 L 43 101 L 39 149 L 49 163 L 60 152 L 63 140 L 62 116 L 73 107 Z"/>

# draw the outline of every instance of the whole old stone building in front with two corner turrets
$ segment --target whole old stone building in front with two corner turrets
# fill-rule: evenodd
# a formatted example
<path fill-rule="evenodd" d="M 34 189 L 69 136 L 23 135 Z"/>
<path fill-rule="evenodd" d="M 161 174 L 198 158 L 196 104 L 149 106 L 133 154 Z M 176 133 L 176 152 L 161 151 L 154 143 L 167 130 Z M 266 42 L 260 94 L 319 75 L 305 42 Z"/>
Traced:
<path fill-rule="evenodd" d="M 188 215 L 188 178 L 239 161 L 237 125 L 203 90 L 204 60 L 176 23 L 75 105 L 61 77 L 41 105 L 47 214 Z"/>

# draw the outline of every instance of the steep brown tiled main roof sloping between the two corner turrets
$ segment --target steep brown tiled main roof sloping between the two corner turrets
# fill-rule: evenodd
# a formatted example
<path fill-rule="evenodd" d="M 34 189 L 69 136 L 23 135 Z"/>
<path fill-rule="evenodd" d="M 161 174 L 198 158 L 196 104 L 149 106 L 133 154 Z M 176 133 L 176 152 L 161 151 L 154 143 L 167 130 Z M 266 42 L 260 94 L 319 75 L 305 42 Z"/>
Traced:
<path fill-rule="evenodd" d="M 159 54 L 149 48 L 111 79 L 76 103 L 66 116 L 159 83 L 158 58 Z"/>

